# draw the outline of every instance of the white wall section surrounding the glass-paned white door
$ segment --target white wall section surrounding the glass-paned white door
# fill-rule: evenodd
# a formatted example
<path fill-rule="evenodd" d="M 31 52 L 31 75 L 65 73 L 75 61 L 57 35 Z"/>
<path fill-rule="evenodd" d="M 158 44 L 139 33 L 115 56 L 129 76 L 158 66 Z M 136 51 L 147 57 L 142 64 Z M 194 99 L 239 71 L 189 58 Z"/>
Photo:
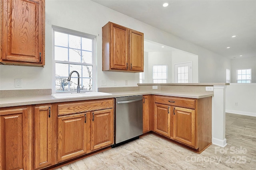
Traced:
<path fill-rule="evenodd" d="M 172 51 L 172 82 L 175 82 L 175 64 L 192 61 L 192 83 L 198 83 L 198 56 L 182 51 Z"/>

